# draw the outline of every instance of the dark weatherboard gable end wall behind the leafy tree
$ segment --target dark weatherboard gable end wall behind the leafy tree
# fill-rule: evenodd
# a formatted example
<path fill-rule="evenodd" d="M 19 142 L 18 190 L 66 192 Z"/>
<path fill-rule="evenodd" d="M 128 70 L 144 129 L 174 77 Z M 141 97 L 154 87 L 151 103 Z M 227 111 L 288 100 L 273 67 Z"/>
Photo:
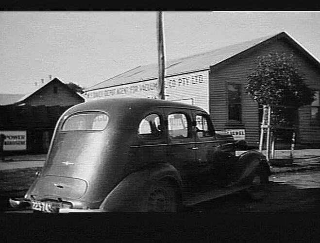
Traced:
<path fill-rule="evenodd" d="M 224 130 L 228 121 L 227 83 L 238 83 L 242 87 L 242 123 L 246 129 L 246 140 L 250 146 L 257 146 L 259 141 L 258 105 L 246 93 L 245 85 L 250 68 L 255 65 L 257 56 L 269 52 L 286 52 L 295 55 L 301 64 L 300 71 L 305 74 L 306 84 L 320 90 L 320 70 L 302 52 L 284 39 L 278 39 L 256 50 L 249 50 L 230 61 L 222 62 L 210 68 L 209 109 L 216 130 Z M 320 125 L 310 124 L 310 105 L 299 109 L 299 131 L 297 143 L 320 143 Z"/>

